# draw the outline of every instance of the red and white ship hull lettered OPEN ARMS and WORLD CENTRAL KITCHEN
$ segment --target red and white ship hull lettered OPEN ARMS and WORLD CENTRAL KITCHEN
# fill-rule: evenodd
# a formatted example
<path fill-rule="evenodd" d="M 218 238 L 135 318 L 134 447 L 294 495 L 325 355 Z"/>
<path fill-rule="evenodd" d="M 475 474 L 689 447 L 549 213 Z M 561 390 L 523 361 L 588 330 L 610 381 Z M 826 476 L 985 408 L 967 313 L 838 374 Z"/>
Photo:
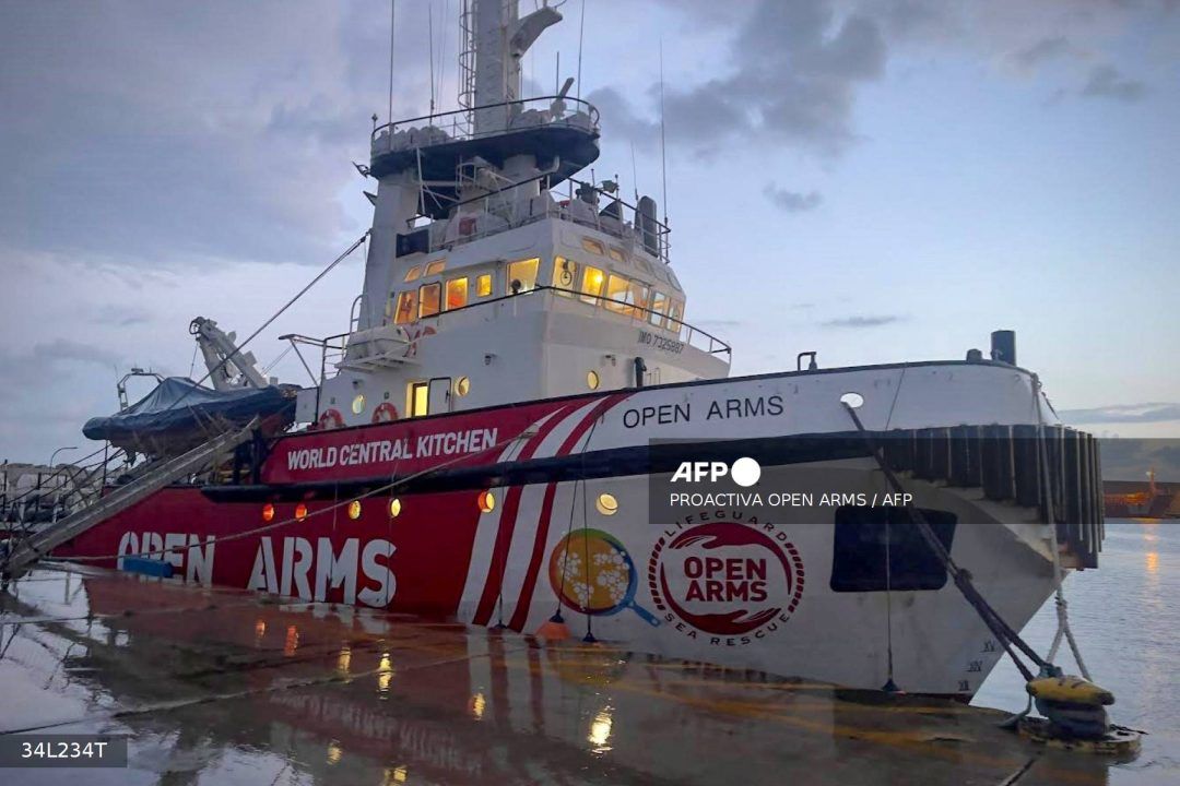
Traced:
<path fill-rule="evenodd" d="M 878 431 L 970 422 L 923 405 L 971 407 L 964 391 L 990 402 L 977 422 L 1028 422 L 1034 396 L 1010 366 L 923 372 L 900 390 L 905 371 L 881 366 L 296 435 L 276 443 L 260 483 L 164 489 L 57 555 L 118 567 L 117 555 L 146 554 L 188 581 L 524 634 L 559 615 L 578 638 L 637 652 L 853 688 L 892 676 L 909 692 L 966 698 L 1002 647 L 912 526 L 903 531 L 907 520 L 878 504 L 897 489 L 850 447 L 839 396 L 876 389 L 860 412 Z M 677 458 L 710 444 L 758 457 L 756 486 L 654 508 L 676 488 Z M 1035 511 L 978 489 L 903 484 L 1022 627 L 1053 590 Z"/>

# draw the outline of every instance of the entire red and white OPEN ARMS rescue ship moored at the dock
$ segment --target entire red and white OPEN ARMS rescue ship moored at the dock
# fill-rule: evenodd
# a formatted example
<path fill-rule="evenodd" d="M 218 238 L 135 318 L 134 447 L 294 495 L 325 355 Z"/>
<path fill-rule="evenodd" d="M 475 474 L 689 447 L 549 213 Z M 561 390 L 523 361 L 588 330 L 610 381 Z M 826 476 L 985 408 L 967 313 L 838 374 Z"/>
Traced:
<path fill-rule="evenodd" d="M 150 461 L 13 544 L 8 572 L 150 568 L 970 699 L 1007 642 L 965 576 L 1018 630 L 1064 572 L 1097 567 L 1094 440 L 1060 423 L 1011 331 L 986 356 L 802 352 L 730 377 L 656 199 L 584 174 L 596 107 L 571 79 L 523 98 L 522 58 L 560 19 L 467 0 L 459 107 L 374 117 L 362 290 L 346 333 L 286 337 L 322 369 L 294 411 L 202 421 L 204 442 L 122 435 Z M 236 345 L 205 357 L 251 376 Z"/>

